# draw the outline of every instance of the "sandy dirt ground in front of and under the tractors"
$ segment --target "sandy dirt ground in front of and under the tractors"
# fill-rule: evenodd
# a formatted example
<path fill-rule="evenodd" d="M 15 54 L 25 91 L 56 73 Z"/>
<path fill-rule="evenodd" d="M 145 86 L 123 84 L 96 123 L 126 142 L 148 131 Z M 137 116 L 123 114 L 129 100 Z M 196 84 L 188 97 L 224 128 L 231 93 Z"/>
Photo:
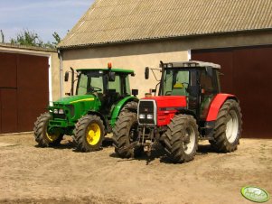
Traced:
<path fill-rule="evenodd" d="M 272 140 L 241 139 L 234 153 L 202 142 L 192 162 L 173 164 L 163 152 L 123 160 L 112 146 L 77 153 L 69 139 L 38 148 L 33 134 L 0 136 L 0 203 L 230 204 L 252 203 L 247 185 L 272 193 Z"/>

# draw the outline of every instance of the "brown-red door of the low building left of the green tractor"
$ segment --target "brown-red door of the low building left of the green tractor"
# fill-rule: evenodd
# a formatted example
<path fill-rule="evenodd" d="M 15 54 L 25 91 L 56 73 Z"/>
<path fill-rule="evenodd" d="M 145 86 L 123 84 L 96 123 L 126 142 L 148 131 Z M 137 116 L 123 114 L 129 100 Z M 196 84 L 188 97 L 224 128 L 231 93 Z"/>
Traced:
<path fill-rule="evenodd" d="M 0 134 L 33 130 L 48 101 L 48 58 L 0 52 Z"/>

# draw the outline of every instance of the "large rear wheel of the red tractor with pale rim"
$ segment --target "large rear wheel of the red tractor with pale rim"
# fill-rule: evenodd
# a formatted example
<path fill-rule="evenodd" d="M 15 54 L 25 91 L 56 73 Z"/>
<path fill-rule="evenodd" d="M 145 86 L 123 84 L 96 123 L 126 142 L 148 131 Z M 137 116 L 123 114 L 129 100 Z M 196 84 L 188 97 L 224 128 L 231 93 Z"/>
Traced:
<path fill-rule="evenodd" d="M 220 153 L 230 153 L 237 149 L 241 134 L 241 109 L 236 100 L 229 99 L 220 108 L 214 127 L 211 146 Z"/>

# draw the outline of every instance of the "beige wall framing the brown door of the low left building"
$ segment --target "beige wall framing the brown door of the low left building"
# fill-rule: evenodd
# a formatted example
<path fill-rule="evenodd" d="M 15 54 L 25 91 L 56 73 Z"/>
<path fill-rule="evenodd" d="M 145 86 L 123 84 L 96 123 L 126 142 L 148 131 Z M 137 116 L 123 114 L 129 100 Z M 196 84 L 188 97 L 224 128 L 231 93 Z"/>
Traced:
<path fill-rule="evenodd" d="M 0 51 L 48 57 L 48 63 L 51 64 L 52 71 L 52 101 L 57 100 L 61 97 L 60 60 L 58 58 L 57 51 L 51 49 L 25 47 L 3 43 L 0 43 Z M 50 83 L 48 84 L 50 86 Z"/>

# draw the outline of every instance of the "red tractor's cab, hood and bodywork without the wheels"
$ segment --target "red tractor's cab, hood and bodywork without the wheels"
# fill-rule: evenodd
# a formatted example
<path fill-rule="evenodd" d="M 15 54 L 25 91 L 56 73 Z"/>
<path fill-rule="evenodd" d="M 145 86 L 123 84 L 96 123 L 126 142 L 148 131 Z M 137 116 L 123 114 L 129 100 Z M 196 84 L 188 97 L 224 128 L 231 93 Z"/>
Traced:
<path fill-rule="evenodd" d="M 209 129 L 212 130 L 214 127 L 220 105 L 227 98 L 237 100 L 233 95 L 220 93 L 220 65 L 202 61 L 184 61 L 161 63 L 161 68 L 162 79 L 158 90 L 160 97 L 145 97 L 140 100 L 139 124 L 152 125 L 146 120 L 147 116 L 144 118 L 145 113 L 141 111 L 146 109 L 143 108 L 145 101 L 155 100 L 157 113 L 154 125 L 168 125 L 169 117 L 173 118 L 177 113 L 192 115 L 202 128 L 202 137 L 209 137 L 209 134 L 212 134 Z M 147 79 L 148 75 L 145 77 Z M 211 102 L 216 97 L 217 101 L 218 97 L 221 98 L 221 104 L 217 108 L 210 109 Z M 214 104 L 212 106 L 214 107 Z"/>

